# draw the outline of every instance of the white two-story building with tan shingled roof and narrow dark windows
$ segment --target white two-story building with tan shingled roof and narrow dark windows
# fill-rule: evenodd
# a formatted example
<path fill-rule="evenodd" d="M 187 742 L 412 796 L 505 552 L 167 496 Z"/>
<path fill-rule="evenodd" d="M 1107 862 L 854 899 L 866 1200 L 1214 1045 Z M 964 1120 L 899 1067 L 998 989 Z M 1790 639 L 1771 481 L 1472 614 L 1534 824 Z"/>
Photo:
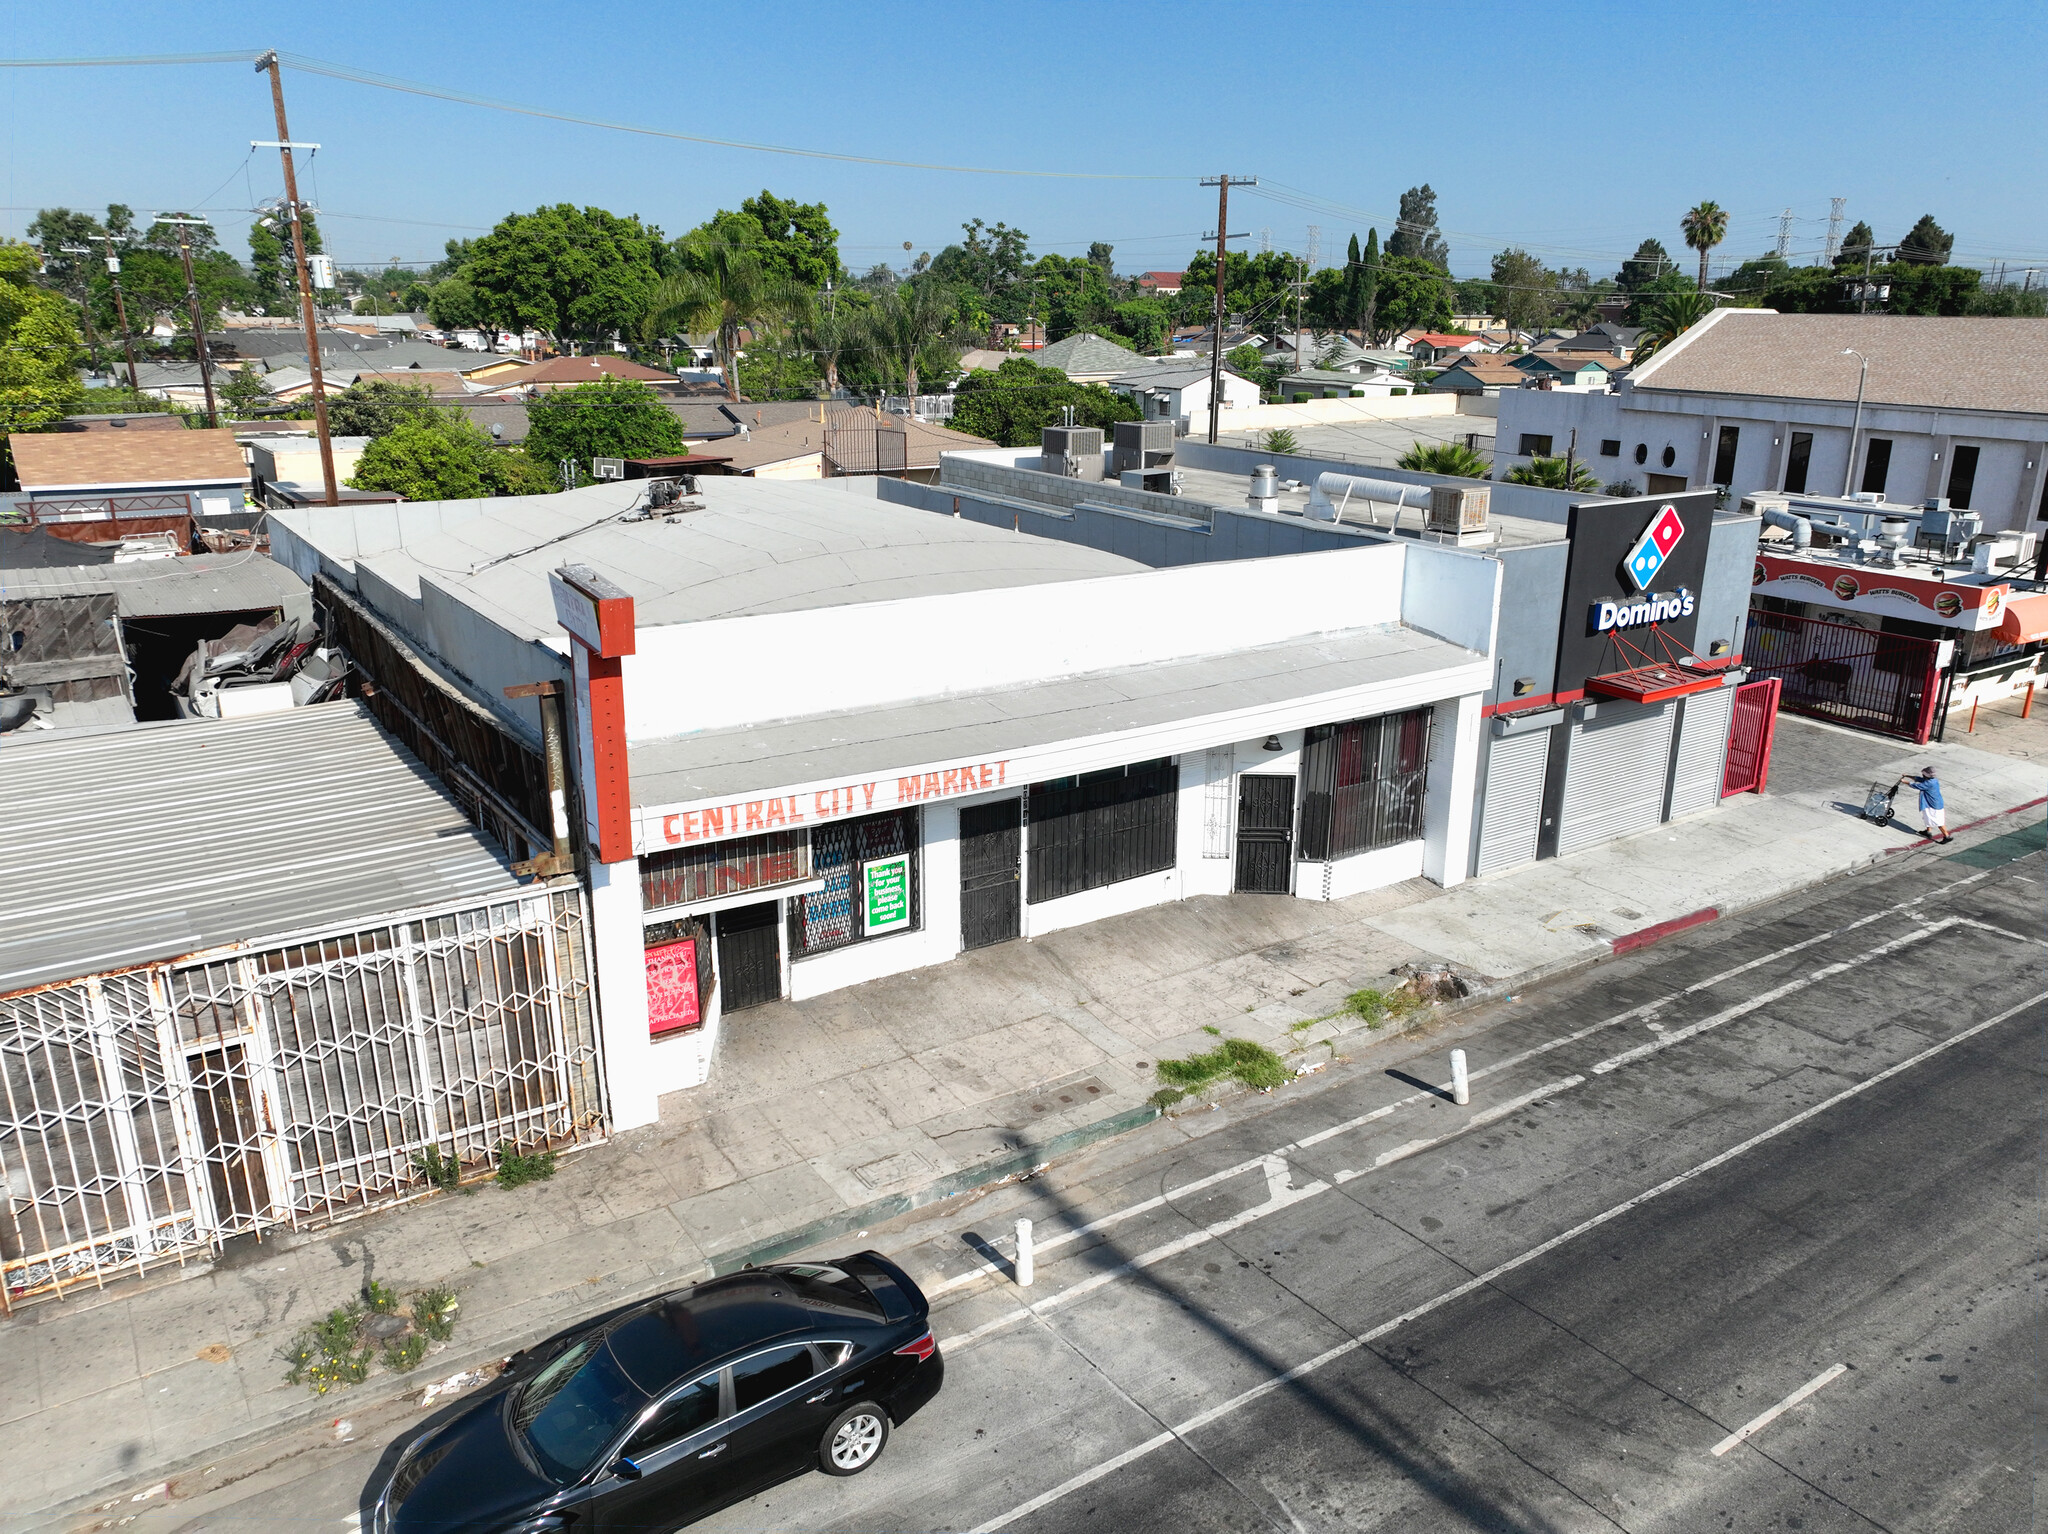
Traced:
<path fill-rule="evenodd" d="M 1716 309 L 1612 391 L 1503 391 L 1495 473 L 1571 451 L 1645 494 L 1946 500 L 2019 532 L 2048 514 L 2044 379 L 2048 319 Z"/>

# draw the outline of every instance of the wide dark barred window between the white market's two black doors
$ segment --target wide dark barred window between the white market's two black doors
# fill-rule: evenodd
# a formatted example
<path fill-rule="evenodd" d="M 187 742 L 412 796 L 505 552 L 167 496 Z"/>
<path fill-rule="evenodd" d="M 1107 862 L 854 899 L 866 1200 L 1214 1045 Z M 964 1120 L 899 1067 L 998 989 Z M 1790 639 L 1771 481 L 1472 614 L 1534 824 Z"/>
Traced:
<path fill-rule="evenodd" d="M 1034 782 L 1026 791 L 1026 899 L 1059 899 L 1174 866 L 1180 768 L 1174 758 Z"/>

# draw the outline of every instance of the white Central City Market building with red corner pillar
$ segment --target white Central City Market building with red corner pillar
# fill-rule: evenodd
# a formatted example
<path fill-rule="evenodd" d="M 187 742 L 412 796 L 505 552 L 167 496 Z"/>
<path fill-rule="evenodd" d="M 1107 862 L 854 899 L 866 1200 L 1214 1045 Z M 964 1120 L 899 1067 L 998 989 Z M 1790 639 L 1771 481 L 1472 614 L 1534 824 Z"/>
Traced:
<path fill-rule="evenodd" d="M 618 1128 L 774 997 L 1192 895 L 1466 872 L 1493 559 L 1151 569 L 872 483 L 637 496 L 276 518 L 279 557 L 524 739 L 539 700 L 506 688 L 565 684 Z"/>

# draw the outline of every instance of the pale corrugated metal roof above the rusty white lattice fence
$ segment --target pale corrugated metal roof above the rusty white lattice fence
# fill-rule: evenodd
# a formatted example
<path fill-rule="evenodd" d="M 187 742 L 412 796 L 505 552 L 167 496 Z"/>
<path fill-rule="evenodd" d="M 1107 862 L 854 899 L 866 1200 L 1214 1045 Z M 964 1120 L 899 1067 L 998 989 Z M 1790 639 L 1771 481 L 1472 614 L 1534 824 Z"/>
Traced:
<path fill-rule="evenodd" d="M 0 993 L 518 887 L 356 702 L 6 735 Z"/>

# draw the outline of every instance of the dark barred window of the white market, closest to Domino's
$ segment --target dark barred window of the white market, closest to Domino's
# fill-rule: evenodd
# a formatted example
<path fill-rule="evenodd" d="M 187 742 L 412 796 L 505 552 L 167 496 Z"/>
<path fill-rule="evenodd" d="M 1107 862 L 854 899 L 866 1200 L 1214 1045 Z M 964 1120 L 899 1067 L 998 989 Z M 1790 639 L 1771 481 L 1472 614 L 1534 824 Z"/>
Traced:
<path fill-rule="evenodd" d="M 1309 731 L 1300 807 L 1305 862 L 1421 836 L 1434 719 L 1434 709 L 1409 709 Z"/>

